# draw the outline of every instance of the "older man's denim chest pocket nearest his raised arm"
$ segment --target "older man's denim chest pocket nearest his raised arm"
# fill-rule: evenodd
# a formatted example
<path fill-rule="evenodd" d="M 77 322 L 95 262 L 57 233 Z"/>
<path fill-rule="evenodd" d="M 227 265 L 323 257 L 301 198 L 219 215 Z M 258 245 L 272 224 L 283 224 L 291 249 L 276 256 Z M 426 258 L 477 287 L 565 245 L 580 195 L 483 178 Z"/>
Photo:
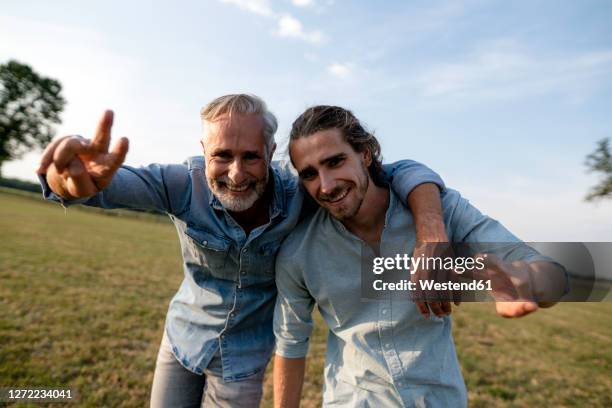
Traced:
<path fill-rule="evenodd" d="M 208 230 L 187 226 L 188 245 L 198 263 L 214 276 L 225 275 L 231 241 Z"/>

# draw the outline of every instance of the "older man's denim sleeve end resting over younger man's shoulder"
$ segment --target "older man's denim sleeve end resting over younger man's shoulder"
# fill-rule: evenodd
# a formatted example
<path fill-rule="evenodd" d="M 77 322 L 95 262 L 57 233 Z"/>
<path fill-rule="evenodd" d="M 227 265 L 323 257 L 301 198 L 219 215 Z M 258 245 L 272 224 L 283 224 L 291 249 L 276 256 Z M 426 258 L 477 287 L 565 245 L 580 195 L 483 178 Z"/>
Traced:
<path fill-rule="evenodd" d="M 424 183 L 433 183 L 443 191 L 444 181 L 429 167 L 414 160 L 400 160 L 383 166 L 385 179 L 397 195 L 405 200 L 415 187 Z"/>

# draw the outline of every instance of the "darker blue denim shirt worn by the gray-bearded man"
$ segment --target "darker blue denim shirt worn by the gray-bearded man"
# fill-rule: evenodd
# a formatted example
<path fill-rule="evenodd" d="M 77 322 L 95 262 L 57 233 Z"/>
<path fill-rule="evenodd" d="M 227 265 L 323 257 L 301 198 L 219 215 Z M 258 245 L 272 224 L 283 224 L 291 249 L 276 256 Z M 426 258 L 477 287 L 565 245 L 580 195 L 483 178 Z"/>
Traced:
<path fill-rule="evenodd" d="M 386 171 L 402 197 L 422 183 L 443 188 L 436 173 L 413 161 L 386 166 Z M 167 213 L 178 232 L 185 275 L 166 317 L 166 333 L 176 358 L 185 368 L 202 374 L 220 355 L 226 381 L 265 368 L 274 348 L 276 253 L 297 225 L 304 201 L 289 165 L 272 164 L 270 219 L 248 236 L 209 190 L 201 156 L 182 165 L 123 166 L 102 192 L 70 202 L 56 196 L 44 177 L 40 179 L 45 198 L 66 205 Z"/>

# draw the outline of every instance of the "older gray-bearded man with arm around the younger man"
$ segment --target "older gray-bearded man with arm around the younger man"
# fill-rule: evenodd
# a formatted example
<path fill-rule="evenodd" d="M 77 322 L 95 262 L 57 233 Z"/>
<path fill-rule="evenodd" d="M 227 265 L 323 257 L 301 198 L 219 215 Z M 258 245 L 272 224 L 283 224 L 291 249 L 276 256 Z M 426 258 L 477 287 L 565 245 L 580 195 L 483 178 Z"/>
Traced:
<path fill-rule="evenodd" d="M 185 278 L 168 310 L 151 405 L 254 407 L 274 347 L 276 252 L 300 219 L 303 194 L 291 170 L 271 162 L 277 122 L 261 99 L 223 96 L 201 116 L 204 157 L 185 164 L 121 166 L 128 141 L 108 151 L 106 112 L 93 140 L 54 141 L 38 173 L 48 199 L 158 210 L 177 228 Z M 438 187 L 423 184 L 442 186 L 440 178 L 408 161 L 387 176 L 420 216 L 419 238 L 443 240 Z"/>

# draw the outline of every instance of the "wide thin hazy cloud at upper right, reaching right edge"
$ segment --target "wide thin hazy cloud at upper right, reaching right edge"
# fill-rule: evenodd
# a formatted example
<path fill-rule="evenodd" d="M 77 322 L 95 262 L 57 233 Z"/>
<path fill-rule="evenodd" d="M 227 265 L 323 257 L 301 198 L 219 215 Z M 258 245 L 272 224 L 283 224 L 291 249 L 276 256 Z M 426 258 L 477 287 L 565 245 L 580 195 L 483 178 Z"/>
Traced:
<path fill-rule="evenodd" d="M 542 56 L 502 41 L 462 61 L 431 66 L 413 85 L 428 98 L 491 100 L 556 92 L 580 99 L 611 73 L 612 50 Z"/>

